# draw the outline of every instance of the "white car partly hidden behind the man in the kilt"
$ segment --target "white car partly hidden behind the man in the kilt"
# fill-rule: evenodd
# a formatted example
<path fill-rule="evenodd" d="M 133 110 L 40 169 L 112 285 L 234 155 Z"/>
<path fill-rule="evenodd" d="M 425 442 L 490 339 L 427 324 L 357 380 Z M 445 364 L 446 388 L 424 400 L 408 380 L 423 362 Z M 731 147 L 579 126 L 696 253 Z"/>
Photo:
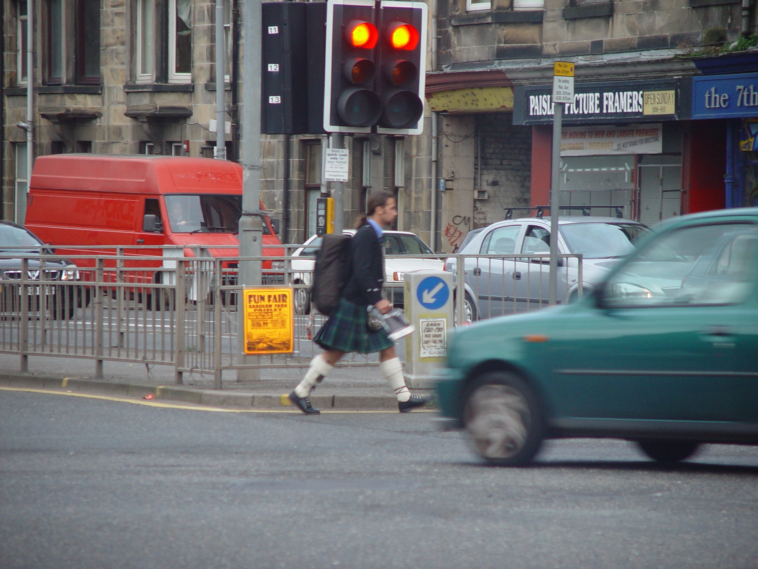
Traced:
<path fill-rule="evenodd" d="M 345 229 L 346 235 L 355 235 L 355 229 Z M 313 267 L 315 266 L 315 256 L 321 248 L 321 237 L 312 235 L 309 240 L 302 244 L 293 254 L 292 270 L 293 285 L 310 285 L 313 277 Z M 434 255 L 418 235 L 409 231 L 384 231 L 384 255 Z M 302 257 L 298 259 L 297 257 Z M 442 259 L 384 259 L 384 270 L 386 272 L 385 281 L 387 283 L 401 283 L 403 273 L 431 269 L 434 271 L 443 270 L 444 262 Z M 304 272 L 299 272 L 304 271 Z M 402 288 L 390 288 L 390 300 L 397 307 L 402 307 L 403 291 Z M 308 314 L 311 310 L 311 294 L 308 288 L 296 288 L 294 294 L 295 312 L 297 314 Z"/>

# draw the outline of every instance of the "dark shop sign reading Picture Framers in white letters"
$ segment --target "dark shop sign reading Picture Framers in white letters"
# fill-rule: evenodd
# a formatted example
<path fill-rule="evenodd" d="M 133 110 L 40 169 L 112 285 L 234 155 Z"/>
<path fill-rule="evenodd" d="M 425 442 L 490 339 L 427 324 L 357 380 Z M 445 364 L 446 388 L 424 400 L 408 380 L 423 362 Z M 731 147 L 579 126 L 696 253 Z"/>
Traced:
<path fill-rule="evenodd" d="M 677 81 L 578 83 L 572 103 L 563 107 L 563 122 L 676 120 L 679 112 Z M 553 121 L 549 86 L 517 86 L 514 89 L 513 124 L 550 124 Z"/>

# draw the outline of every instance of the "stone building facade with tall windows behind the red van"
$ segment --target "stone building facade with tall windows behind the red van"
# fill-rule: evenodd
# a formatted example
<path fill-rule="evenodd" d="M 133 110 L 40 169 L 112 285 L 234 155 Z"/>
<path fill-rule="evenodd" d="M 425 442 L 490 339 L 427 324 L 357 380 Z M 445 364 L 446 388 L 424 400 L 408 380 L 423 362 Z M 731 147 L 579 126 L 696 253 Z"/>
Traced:
<path fill-rule="evenodd" d="M 240 156 L 243 26 L 240 0 L 226 0 L 227 158 Z M 56 152 L 214 156 L 215 2 L 35 0 L 34 156 Z M 27 0 L 2 4 L 2 217 L 23 222 L 27 185 L 25 25 Z M 82 68 L 86 58 L 87 69 Z M 85 73 L 86 71 L 86 73 Z M 427 126 L 429 118 L 426 119 Z M 428 131 L 428 128 L 427 128 Z M 346 227 L 376 188 L 396 193 L 398 227 L 430 240 L 429 137 L 346 137 L 351 181 Z M 282 221 L 281 240 L 315 231 L 321 136 L 262 137 L 261 195 Z"/>

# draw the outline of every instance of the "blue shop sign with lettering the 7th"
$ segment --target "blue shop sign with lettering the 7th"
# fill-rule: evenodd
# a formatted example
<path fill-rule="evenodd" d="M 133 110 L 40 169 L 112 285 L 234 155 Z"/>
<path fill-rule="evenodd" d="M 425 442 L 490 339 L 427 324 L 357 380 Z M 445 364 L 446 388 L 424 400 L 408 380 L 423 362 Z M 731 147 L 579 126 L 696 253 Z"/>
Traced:
<path fill-rule="evenodd" d="M 692 79 L 692 118 L 758 117 L 758 73 Z"/>

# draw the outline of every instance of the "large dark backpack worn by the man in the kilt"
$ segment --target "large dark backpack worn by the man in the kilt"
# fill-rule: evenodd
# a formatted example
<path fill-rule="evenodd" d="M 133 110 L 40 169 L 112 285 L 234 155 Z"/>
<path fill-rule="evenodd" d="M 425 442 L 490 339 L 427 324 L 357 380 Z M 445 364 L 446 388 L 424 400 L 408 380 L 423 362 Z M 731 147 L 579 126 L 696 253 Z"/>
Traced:
<path fill-rule="evenodd" d="M 321 250 L 313 269 L 311 298 L 318 312 L 326 316 L 340 306 L 342 291 L 350 272 L 351 239 L 350 235 L 329 233 L 321 241 Z"/>

